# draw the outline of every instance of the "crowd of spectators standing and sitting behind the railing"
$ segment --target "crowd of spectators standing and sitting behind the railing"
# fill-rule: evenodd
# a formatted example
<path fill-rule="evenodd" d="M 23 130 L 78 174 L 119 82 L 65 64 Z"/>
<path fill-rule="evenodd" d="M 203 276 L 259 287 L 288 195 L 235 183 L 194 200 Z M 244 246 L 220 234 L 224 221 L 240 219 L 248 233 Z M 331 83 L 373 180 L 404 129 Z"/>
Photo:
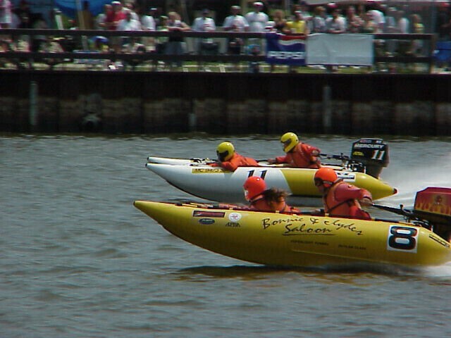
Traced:
<path fill-rule="evenodd" d="M 197 11 L 197 15 L 188 25 L 183 15 L 178 11 L 163 13 L 162 8 L 138 8 L 133 0 L 112 1 L 104 5 L 103 12 L 97 16 L 89 10 L 89 1 L 82 2 L 82 9 L 75 19 L 61 20 L 58 10 L 51 11 L 51 23 L 44 20 L 41 13 L 32 13 L 26 0 L 21 0 L 13 7 L 11 0 L 0 0 L 1 28 L 63 28 L 73 30 L 120 30 L 120 31 L 163 31 L 163 32 L 279 32 L 285 35 L 309 35 L 314 33 L 424 33 L 425 27 L 420 13 L 407 11 L 407 7 L 385 5 L 378 1 L 358 5 L 340 5 L 329 3 L 321 6 L 310 6 L 305 1 L 294 1 L 290 11 L 281 8 L 270 8 L 267 1 L 255 1 L 247 13 L 242 13 L 240 6 L 230 8 L 221 25 L 216 23 L 211 8 Z M 408 14 L 407 14 L 408 13 Z M 450 40 L 451 18 L 450 6 L 441 2 L 435 18 L 436 33 L 439 40 Z M 80 46 L 79 42 L 68 39 L 49 37 L 8 37 L 1 35 L 0 51 L 72 51 Z M 152 52 L 158 54 L 185 54 L 186 44 L 183 35 L 169 37 L 110 37 L 101 35 L 82 42 L 83 49 L 98 51 L 115 51 L 125 53 Z M 59 44 L 60 46 L 56 46 Z M 243 54 L 252 52 L 248 46 L 257 46 L 261 53 L 264 41 L 249 39 L 245 42 L 240 38 L 228 39 L 226 51 L 228 54 Z M 420 55 L 423 48 L 421 40 L 409 42 L 385 41 L 381 52 L 385 55 L 412 54 Z M 198 54 L 217 54 L 218 43 L 214 39 L 196 39 L 193 47 Z M 181 61 L 168 63 L 180 66 Z"/>

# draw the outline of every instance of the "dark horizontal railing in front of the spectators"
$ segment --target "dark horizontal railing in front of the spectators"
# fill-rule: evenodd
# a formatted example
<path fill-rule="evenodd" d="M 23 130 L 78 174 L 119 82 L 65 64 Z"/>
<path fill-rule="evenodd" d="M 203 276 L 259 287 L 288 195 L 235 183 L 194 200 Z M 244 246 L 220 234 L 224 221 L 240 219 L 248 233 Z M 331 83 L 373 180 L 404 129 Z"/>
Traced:
<path fill-rule="evenodd" d="M 154 37 L 154 38 L 187 38 L 187 39 L 215 39 L 216 41 L 223 39 L 225 42 L 228 39 L 240 38 L 244 41 L 247 39 L 264 39 L 265 33 L 255 32 L 163 32 L 163 31 L 110 31 L 110 30 L 30 30 L 30 29 L 3 29 L 0 30 L 2 37 L 11 37 L 12 41 L 20 37 L 61 37 L 63 39 L 80 39 L 79 46 L 81 47 L 81 40 L 83 37 L 89 39 L 92 37 L 102 36 L 106 38 L 111 37 Z M 426 63 L 428 70 L 431 72 L 433 66 L 433 51 L 435 48 L 435 36 L 431 34 L 376 34 L 373 35 L 376 40 L 397 40 L 402 42 L 412 42 L 414 40 L 421 40 L 425 42 L 424 51 L 421 56 L 412 55 L 388 55 L 378 54 L 375 48 L 374 63 Z M 308 37 L 307 37 L 308 40 Z M 92 54 L 92 51 L 64 51 L 61 53 L 47 53 L 39 51 L 5 51 L 0 54 L 0 59 L 6 59 L 16 64 L 25 63 L 26 68 L 34 68 L 33 64 L 36 62 L 44 62 L 49 59 L 59 60 L 61 62 L 73 62 L 73 60 L 80 59 L 100 59 L 100 60 L 121 60 L 121 61 L 194 61 L 194 62 L 221 62 L 221 63 L 239 63 L 239 62 L 263 62 L 264 55 L 252 54 L 227 54 L 222 51 L 216 55 L 197 54 L 191 51 L 185 54 L 159 54 L 155 51 L 143 52 L 137 54 L 130 54 L 124 52 L 101 52 Z"/>

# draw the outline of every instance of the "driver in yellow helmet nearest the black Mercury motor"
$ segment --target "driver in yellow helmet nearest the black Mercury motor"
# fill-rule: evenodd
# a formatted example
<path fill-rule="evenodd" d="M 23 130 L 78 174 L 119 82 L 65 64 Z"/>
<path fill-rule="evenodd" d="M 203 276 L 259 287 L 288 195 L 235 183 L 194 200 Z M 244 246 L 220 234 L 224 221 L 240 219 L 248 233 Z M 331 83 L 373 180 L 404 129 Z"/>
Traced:
<path fill-rule="evenodd" d="M 296 168 L 321 168 L 321 161 L 318 157 L 321 151 L 315 146 L 299 142 L 297 134 L 294 132 L 285 132 L 280 137 L 280 142 L 283 143 L 283 151 L 287 154 L 269 158 L 269 163 L 288 163 L 290 167 Z"/>

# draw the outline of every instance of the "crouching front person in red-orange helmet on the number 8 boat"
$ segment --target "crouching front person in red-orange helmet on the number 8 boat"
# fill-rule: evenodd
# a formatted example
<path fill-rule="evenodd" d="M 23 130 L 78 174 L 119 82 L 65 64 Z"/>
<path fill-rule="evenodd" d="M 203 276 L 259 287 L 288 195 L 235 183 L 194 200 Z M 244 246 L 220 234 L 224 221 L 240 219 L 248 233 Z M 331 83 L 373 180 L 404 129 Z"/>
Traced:
<path fill-rule="evenodd" d="M 266 182 L 261 177 L 248 177 L 242 187 L 245 189 L 245 199 L 250 202 L 251 210 L 299 213 L 297 208 L 292 208 L 285 202 L 287 192 L 276 188 L 267 189 Z"/>

